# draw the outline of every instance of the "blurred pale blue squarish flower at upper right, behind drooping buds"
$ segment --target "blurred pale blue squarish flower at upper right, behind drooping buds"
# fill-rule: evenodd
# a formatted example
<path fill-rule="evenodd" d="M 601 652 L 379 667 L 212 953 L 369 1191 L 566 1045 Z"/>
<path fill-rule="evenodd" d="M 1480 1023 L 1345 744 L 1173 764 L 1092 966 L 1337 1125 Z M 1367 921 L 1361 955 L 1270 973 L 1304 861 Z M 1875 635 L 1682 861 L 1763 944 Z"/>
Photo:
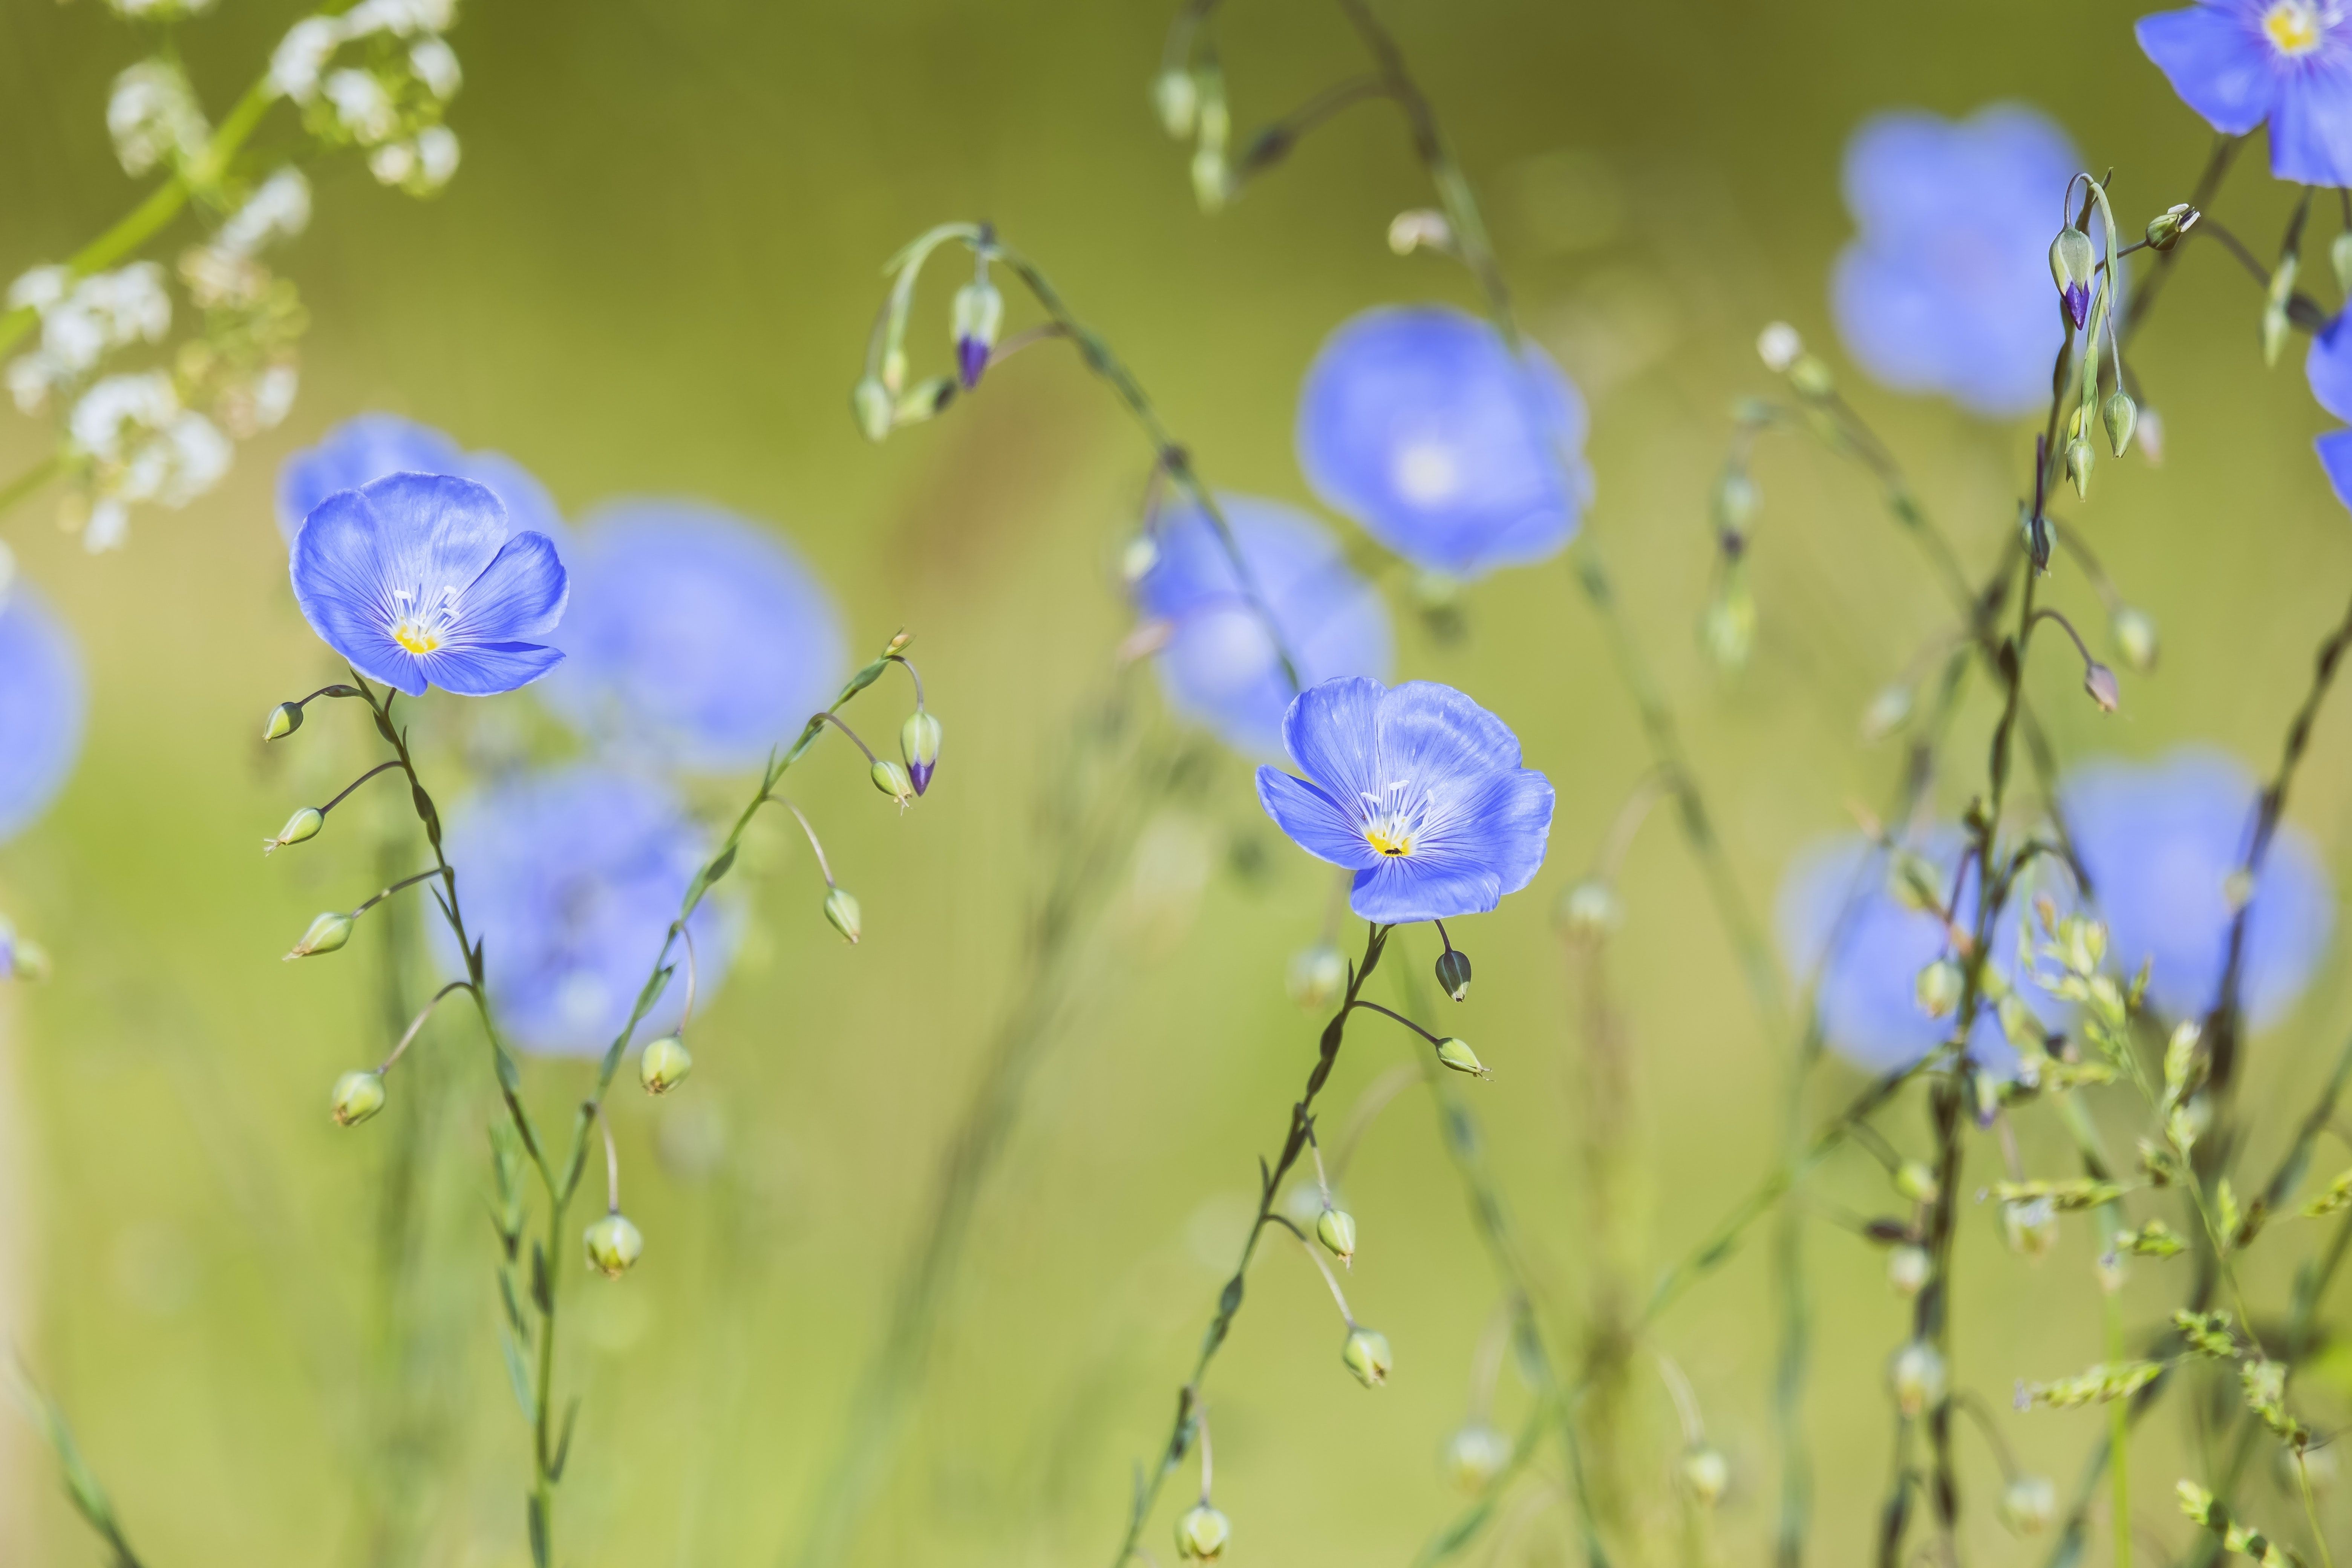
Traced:
<path fill-rule="evenodd" d="M 2046 404 L 2065 341 L 2049 252 L 2079 167 L 2067 134 L 2018 103 L 1863 120 L 1844 169 L 1858 233 L 1830 280 L 1856 364 L 1987 418 Z M 2091 237 L 2105 252 L 2096 221 Z"/>

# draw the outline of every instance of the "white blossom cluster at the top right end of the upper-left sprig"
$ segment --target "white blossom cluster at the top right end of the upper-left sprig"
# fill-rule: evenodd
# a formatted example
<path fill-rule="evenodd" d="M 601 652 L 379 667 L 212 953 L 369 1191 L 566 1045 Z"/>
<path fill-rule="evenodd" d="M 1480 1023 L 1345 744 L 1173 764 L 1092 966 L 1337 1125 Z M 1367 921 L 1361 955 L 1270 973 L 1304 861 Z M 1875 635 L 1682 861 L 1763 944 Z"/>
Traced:
<path fill-rule="evenodd" d="M 456 132 L 442 108 L 463 71 L 442 33 L 454 0 L 360 0 L 341 16 L 296 21 L 270 54 L 270 92 L 303 106 L 322 141 L 367 150 L 379 183 L 430 195 L 456 174 Z M 343 45 L 358 63 L 332 68 Z"/>

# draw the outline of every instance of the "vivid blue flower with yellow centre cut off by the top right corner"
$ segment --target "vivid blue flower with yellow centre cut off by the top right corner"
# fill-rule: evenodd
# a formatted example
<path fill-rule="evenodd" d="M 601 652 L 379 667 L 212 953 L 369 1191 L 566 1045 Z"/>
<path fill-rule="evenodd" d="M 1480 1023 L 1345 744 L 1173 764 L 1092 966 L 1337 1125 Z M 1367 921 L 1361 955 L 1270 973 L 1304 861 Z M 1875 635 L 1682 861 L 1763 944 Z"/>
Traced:
<path fill-rule="evenodd" d="M 2270 172 L 2352 186 L 2352 16 L 2343 0 L 2201 0 L 2140 16 L 2140 49 L 2223 136 L 2270 120 Z"/>

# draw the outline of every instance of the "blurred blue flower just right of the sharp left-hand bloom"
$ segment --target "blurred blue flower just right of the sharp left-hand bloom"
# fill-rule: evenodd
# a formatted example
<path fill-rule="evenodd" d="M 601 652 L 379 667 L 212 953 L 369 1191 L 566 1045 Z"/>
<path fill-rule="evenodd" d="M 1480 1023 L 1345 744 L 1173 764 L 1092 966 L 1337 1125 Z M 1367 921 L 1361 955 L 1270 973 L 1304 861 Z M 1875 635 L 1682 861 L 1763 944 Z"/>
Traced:
<path fill-rule="evenodd" d="M 588 736 L 687 769 L 755 766 L 840 686 L 833 597 L 755 522 L 626 501 L 588 520 L 564 559 L 564 668 L 541 696 Z"/>

